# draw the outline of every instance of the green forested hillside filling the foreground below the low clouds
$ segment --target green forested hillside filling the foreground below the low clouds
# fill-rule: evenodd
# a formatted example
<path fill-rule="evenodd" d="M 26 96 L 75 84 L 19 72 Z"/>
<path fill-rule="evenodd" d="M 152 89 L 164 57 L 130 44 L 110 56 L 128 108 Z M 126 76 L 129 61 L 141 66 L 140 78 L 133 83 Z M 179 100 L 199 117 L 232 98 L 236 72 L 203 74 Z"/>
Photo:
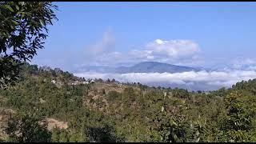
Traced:
<path fill-rule="evenodd" d="M 29 64 L 20 77 L 0 90 L 0 142 L 256 142 L 256 79 L 206 93 Z"/>

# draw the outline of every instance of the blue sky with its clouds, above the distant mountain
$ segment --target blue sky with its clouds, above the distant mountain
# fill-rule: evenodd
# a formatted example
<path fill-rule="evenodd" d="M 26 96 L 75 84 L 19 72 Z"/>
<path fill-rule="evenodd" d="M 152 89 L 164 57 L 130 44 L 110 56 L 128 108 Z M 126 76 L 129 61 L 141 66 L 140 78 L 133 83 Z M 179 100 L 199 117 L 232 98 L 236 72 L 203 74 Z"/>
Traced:
<path fill-rule="evenodd" d="M 39 66 L 256 63 L 255 2 L 54 2 Z"/>

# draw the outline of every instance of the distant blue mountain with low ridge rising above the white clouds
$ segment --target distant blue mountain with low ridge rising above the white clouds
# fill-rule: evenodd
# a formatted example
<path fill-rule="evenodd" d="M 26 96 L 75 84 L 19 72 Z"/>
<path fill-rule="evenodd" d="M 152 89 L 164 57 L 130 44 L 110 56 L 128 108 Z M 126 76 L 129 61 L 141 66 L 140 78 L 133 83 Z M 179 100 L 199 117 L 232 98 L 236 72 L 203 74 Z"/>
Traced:
<path fill-rule="evenodd" d="M 162 62 L 140 62 L 134 66 L 125 67 L 109 67 L 109 66 L 85 66 L 81 69 L 83 72 L 98 72 L 98 73 L 181 73 L 186 71 L 199 71 L 200 68 L 188 66 L 176 66 Z"/>

